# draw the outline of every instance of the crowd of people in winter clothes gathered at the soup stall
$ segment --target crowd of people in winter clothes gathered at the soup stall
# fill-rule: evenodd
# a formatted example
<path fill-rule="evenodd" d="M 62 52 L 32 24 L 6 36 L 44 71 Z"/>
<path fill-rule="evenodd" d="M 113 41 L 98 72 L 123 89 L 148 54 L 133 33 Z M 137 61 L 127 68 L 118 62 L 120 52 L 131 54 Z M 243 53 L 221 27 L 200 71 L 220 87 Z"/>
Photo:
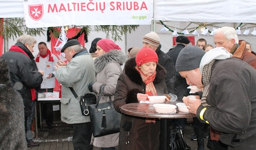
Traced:
<path fill-rule="evenodd" d="M 23 115 L 15 120 L 21 128 L 11 128 L 21 136 L 8 145 L 4 139 L 11 135 L 6 135 L 0 147 L 26 149 L 40 145 L 33 141 L 35 100 L 40 92 L 53 92 L 56 79 L 62 85 L 60 119 L 72 125 L 75 150 L 160 149 L 157 119 L 122 114 L 120 132 L 93 137 L 90 116 L 82 115 L 78 98 L 87 93 L 97 96 L 102 85 L 105 88 L 98 101 L 114 100 L 119 113 L 121 106 L 146 101 L 148 96 L 176 94 L 177 101 L 184 102 L 196 115 L 191 140 L 197 141 L 198 150 L 204 150 L 204 138 L 208 137 L 211 150 L 255 149 L 256 55 L 250 43 L 239 40 L 235 29 L 227 26 L 215 31 L 215 47 L 203 38 L 191 46 L 190 40 L 181 35 L 164 53 L 155 32 L 145 34 L 141 42 L 141 46 L 129 48 L 127 55 L 111 39 L 93 39 L 89 51 L 77 39 L 71 39 L 61 50 L 67 61 L 61 61 L 44 42 L 38 44 L 39 53 L 33 56 L 35 38 L 20 36 L 0 57 L 0 71 L 5 70 L 2 78 L 8 79 L 1 78 L 0 87 L 13 88 L 8 96 L 23 102 L 17 106 Z M 188 97 L 189 85 L 202 89 L 192 93 L 196 100 Z M 47 128 L 54 128 L 53 105 L 44 104 L 43 112 Z M 175 121 L 177 128 L 184 129 L 186 119 Z"/>

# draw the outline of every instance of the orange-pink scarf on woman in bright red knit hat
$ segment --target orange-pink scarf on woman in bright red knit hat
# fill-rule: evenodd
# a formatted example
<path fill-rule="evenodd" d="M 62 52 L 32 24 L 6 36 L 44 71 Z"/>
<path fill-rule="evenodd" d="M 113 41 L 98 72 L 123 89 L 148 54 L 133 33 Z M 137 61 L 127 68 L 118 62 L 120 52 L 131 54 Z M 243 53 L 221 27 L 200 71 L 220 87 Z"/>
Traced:
<path fill-rule="evenodd" d="M 143 83 L 146 85 L 145 94 L 148 94 L 149 96 L 157 96 L 157 92 L 156 92 L 155 86 L 153 84 L 153 81 L 154 81 L 155 75 L 156 75 L 156 71 L 154 72 L 153 75 L 148 76 L 148 75 L 144 75 L 138 66 L 136 66 L 135 68 L 139 72 Z"/>

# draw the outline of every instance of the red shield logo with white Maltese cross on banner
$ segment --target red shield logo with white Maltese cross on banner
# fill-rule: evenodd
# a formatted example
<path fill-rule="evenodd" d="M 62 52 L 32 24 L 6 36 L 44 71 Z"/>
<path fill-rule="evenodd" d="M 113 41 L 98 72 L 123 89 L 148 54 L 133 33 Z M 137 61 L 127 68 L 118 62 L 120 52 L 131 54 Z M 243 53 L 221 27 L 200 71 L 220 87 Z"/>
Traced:
<path fill-rule="evenodd" d="M 43 4 L 38 5 L 29 5 L 29 16 L 35 20 L 38 21 L 43 17 L 44 11 L 43 11 Z"/>

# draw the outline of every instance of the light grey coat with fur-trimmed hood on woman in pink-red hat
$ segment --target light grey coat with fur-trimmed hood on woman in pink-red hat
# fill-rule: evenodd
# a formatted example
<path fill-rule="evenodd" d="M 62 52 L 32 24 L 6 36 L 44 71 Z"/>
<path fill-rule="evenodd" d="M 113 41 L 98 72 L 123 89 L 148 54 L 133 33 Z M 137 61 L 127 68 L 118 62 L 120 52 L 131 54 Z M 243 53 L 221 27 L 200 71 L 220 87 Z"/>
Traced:
<path fill-rule="evenodd" d="M 119 75 L 123 72 L 121 66 L 127 60 L 127 55 L 121 50 L 111 50 L 94 60 L 96 82 L 93 84 L 93 91 L 99 94 L 101 85 L 106 85 L 100 103 L 114 100 L 116 84 Z M 92 138 L 96 147 L 114 147 L 118 145 L 119 133 Z"/>

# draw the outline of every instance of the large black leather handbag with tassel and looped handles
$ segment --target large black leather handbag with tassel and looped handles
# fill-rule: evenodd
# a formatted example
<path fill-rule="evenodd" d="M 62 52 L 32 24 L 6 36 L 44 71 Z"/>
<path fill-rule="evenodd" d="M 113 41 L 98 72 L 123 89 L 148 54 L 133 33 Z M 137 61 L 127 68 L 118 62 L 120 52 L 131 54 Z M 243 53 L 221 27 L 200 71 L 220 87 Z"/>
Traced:
<path fill-rule="evenodd" d="M 89 106 L 93 137 L 117 133 L 120 130 L 121 114 L 115 108 L 111 97 L 109 102 L 99 103 L 105 85 L 100 88 L 97 103 Z"/>

